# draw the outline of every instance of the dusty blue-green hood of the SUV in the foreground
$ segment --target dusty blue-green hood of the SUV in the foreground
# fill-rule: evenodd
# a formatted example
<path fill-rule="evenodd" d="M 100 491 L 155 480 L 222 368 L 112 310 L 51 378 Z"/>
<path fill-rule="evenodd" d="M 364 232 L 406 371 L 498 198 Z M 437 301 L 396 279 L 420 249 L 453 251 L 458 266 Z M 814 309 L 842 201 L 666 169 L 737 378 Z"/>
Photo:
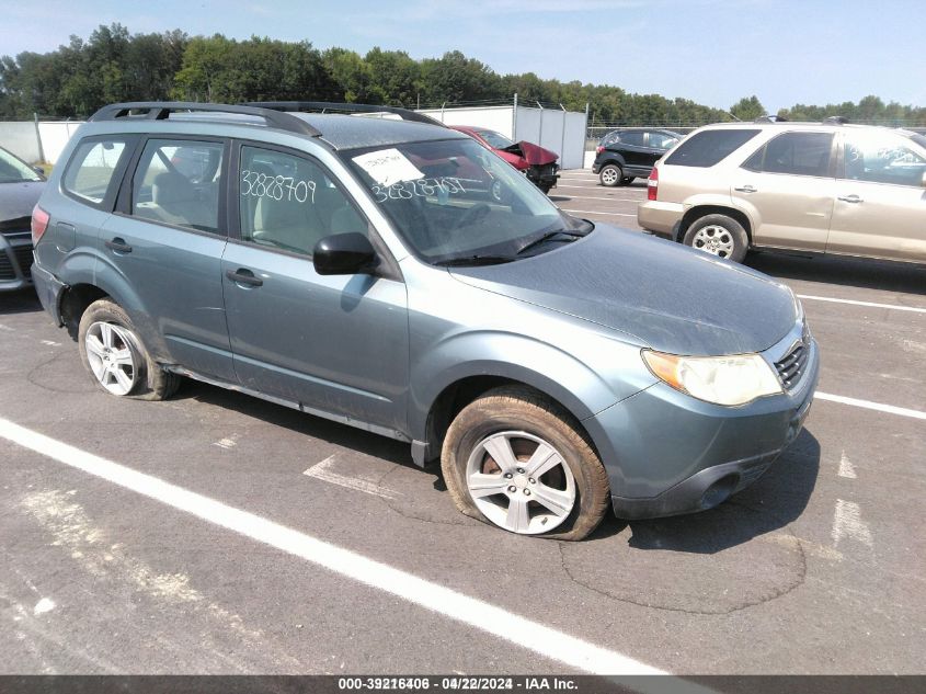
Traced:
<path fill-rule="evenodd" d="M 762 352 L 798 317 L 791 292 L 762 273 L 606 225 L 540 255 L 451 274 L 673 354 Z"/>

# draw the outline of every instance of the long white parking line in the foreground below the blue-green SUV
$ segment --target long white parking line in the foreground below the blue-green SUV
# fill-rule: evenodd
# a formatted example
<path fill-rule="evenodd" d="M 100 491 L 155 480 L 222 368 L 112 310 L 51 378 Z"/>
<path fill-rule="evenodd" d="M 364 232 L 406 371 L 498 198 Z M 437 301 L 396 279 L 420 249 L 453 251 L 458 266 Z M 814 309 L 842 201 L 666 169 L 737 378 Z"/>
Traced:
<path fill-rule="evenodd" d="M 477 598 L 113 463 L 2 418 L 0 436 L 64 465 L 391 593 L 571 668 L 594 674 L 665 674 L 617 651 L 569 636 Z"/>

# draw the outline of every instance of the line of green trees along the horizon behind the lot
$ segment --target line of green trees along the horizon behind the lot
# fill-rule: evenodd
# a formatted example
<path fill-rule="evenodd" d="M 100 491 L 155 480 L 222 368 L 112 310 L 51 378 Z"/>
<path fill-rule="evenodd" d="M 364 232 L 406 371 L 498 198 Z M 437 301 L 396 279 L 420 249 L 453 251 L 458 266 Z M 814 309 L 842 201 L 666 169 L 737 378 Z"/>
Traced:
<path fill-rule="evenodd" d="M 730 111 L 688 99 L 628 93 L 608 84 L 540 79 L 533 72 L 499 75 L 458 50 L 415 60 L 402 50 L 373 48 L 362 56 L 344 48 L 319 50 L 309 42 L 221 34 L 188 36 L 180 30 L 130 34 L 121 24 L 101 25 L 84 41 L 50 53 L 0 58 L 0 118 L 83 118 L 123 101 L 265 100 L 347 101 L 405 107 L 511 101 L 590 109 L 590 125 L 696 126 L 748 121 L 765 113 L 747 96 Z M 926 126 L 926 109 L 884 104 L 866 96 L 858 104 L 797 104 L 778 115 L 793 121 L 843 115 L 854 122 Z"/>

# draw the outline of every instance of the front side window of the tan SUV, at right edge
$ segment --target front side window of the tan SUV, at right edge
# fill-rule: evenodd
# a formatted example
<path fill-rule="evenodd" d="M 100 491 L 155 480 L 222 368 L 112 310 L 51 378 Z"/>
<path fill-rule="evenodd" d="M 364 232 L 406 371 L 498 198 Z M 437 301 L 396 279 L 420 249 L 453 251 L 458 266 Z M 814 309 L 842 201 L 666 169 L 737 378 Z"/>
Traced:
<path fill-rule="evenodd" d="M 847 134 L 843 153 L 846 179 L 923 185 L 926 158 L 900 137 L 881 133 Z"/>

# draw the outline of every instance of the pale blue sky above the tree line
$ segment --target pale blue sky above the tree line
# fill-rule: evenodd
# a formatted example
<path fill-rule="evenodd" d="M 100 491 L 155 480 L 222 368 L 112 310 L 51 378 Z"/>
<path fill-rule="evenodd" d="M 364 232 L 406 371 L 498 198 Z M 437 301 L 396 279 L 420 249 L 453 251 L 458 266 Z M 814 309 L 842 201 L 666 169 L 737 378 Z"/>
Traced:
<path fill-rule="evenodd" d="M 133 34 L 308 41 L 413 58 L 460 50 L 500 75 L 614 84 L 729 109 L 926 106 L 924 0 L 0 0 L 0 55 L 118 22 Z"/>

